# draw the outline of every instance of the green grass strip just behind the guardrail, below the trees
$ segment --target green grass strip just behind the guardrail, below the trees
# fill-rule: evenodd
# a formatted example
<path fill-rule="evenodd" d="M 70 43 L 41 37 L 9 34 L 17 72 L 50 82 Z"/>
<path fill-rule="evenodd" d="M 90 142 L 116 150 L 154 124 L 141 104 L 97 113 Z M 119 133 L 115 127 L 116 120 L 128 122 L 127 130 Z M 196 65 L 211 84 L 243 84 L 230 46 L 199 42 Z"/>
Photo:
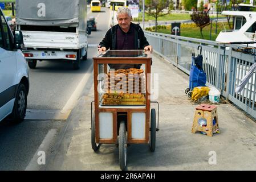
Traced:
<path fill-rule="evenodd" d="M 223 24 L 218 23 L 218 25 L 217 25 L 217 34 L 215 34 L 216 23 L 213 22 L 213 24 L 212 24 L 212 38 L 210 39 L 210 24 L 209 24 L 209 26 L 206 26 L 205 28 L 203 28 L 202 34 L 204 35 L 204 39 L 206 39 L 206 40 L 216 40 L 220 31 L 224 30 L 224 29 L 229 30 L 229 26 L 228 26 L 227 22 L 224 22 Z M 161 28 L 161 29 L 157 30 L 157 32 L 164 33 L 164 34 L 170 34 L 170 26 L 167 26 L 166 29 Z M 202 39 L 199 27 L 182 27 L 181 28 L 181 36 Z"/>

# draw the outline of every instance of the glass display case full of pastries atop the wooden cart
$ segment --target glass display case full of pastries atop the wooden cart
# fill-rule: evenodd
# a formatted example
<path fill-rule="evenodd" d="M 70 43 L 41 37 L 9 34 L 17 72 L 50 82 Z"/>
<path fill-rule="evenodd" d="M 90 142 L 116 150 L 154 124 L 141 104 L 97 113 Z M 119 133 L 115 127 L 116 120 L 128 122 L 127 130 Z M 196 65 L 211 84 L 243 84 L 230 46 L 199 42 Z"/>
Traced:
<path fill-rule="evenodd" d="M 141 58 L 149 56 L 142 50 L 134 50 L 107 51 L 97 57 L 105 62 L 96 65 L 100 107 L 146 105 L 147 70 Z M 107 63 L 108 60 L 112 63 Z M 129 63 L 123 63 L 127 60 Z"/>

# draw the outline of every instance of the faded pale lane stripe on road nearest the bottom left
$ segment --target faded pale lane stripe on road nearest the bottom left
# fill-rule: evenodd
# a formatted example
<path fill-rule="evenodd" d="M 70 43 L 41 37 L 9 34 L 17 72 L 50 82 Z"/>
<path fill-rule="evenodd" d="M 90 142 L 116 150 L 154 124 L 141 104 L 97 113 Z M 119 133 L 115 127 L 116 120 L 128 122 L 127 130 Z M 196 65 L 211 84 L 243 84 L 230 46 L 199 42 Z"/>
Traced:
<path fill-rule="evenodd" d="M 40 167 L 42 167 L 43 165 L 38 164 L 38 159 L 40 158 L 40 155 L 38 154 L 42 154 L 41 151 L 44 153 L 47 152 L 56 133 L 56 129 L 51 129 L 50 131 L 48 131 L 46 137 L 44 137 L 43 142 L 38 147 L 38 150 L 35 152 L 33 158 L 30 160 L 30 163 L 26 167 L 25 171 L 39 171 Z M 45 156 L 45 159 L 47 159 L 47 156 Z"/>

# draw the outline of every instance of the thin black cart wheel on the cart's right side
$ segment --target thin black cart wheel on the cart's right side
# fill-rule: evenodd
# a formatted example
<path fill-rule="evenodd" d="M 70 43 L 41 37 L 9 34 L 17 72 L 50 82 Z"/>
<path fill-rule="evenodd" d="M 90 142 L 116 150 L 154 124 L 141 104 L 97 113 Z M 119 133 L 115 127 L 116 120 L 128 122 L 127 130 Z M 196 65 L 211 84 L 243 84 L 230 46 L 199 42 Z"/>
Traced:
<path fill-rule="evenodd" d="M 156 109 L 151 109 L 149 147 L 150 147 L 151 152 L 155 151 L 155 148 L 156 148 Z"/>

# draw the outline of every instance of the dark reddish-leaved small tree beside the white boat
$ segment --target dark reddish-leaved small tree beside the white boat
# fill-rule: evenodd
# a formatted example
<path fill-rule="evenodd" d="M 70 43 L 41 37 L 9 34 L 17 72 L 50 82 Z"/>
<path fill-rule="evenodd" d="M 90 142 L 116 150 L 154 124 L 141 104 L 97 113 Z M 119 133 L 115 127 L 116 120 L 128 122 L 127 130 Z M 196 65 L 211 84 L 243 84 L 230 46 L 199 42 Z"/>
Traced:
<path fill-rule="evenodd" d="M 209 10 L 207 11 L 193 11 L 193 14 L 190 15 L 191 20 L 196 23 L 197 27 L 200 27 L 200 33 L 202 39 L 204 39 L 204 35 L 202 35 L 202 29 L 210 24 L 210 16 Z"/>

